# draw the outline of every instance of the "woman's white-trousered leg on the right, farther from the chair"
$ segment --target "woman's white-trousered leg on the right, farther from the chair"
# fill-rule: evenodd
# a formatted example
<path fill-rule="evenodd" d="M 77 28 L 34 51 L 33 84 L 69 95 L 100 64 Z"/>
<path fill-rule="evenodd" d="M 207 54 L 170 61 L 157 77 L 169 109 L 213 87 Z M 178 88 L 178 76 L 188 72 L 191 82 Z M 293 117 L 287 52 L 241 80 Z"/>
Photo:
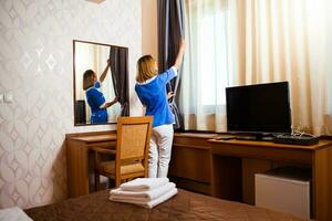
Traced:
<path fill-rule="evenodd" d="M 157 177 L 167 177 L 174 135 L 173 125 L 157 127 L 157 131 L 159 135 L 157 143 L 159 150 Z"/>

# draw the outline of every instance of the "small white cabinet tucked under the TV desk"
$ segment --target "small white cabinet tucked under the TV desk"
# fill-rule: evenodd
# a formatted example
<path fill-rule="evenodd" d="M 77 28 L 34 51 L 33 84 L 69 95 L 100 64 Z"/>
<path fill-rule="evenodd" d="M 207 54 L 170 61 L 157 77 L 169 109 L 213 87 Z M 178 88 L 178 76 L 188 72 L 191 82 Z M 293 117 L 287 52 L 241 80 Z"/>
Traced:
<path fill-rule="evenodd" d="M 292 167 L 256 173 L 256 206 L 310 219 L 310 170 Z"/>

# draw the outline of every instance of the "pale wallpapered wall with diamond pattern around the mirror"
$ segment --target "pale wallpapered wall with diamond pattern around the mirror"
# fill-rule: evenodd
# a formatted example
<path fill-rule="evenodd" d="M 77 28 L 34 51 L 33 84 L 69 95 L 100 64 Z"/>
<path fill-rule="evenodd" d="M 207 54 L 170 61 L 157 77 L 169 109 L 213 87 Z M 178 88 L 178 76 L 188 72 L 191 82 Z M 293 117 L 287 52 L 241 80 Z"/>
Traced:
<path fill-rule="evenodd" d="M 128 46 L 133 87 L 141 0 L 0 1 L 0 208 L 66 198 L 65 134 L 114 129 L 73 126 L 73 39 Z"/>

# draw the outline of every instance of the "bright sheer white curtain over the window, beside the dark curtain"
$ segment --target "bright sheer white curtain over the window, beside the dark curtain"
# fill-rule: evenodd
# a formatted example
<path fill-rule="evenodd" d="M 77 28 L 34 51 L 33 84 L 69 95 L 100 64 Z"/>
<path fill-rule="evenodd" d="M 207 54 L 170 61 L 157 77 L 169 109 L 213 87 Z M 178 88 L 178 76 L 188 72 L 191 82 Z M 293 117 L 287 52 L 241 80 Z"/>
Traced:
<path fill-rule="evenodd" d="M 228 1 L 187 0 L 180 106 L 186 129 L 221 130 L 232 73 Z"/>

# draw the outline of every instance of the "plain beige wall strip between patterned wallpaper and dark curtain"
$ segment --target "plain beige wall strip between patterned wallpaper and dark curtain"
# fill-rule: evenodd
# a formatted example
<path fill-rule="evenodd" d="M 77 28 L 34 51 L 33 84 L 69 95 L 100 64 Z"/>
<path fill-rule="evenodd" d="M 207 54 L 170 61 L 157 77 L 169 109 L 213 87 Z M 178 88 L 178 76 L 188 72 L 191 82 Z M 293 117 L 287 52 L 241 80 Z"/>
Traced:
<path fill-rule="evenodd" d="M 142 54 L 158 59 L 157 0 L 142 0 Z"/>

